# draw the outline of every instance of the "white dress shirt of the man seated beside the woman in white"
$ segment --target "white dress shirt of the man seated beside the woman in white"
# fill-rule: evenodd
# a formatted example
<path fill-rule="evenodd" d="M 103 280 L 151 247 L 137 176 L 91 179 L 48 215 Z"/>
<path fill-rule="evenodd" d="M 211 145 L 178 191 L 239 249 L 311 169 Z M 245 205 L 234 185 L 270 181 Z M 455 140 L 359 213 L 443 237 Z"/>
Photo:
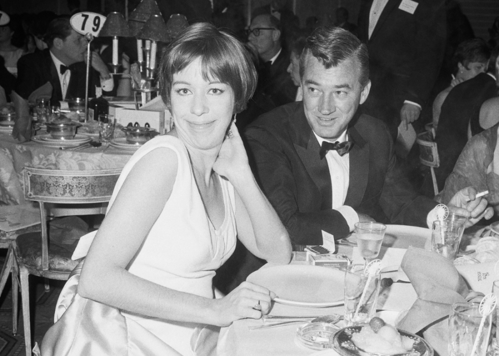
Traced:
<path fill-rule="evenodd" d="M 324 140 L 314 132 L 319 145 Z M 335 143 L 347 141 L 347 131 L 345 130 L 338 140 L 330 141 Z M 350 231 L 353 231 L 355 223 L 358 223 L 358 215 L 352 207 L 343 205 L 347 197 L 348 184 L 350 182 L 350 154 L 347 153 L 343 156 L 338 154 L 338 151 L 329 150 L 326 153 L 327 167 L 329 168 L 329 175 L 331 177 L 331 192 L 332 192 L 332 209 L 339 211 L 347 221 Z"/>

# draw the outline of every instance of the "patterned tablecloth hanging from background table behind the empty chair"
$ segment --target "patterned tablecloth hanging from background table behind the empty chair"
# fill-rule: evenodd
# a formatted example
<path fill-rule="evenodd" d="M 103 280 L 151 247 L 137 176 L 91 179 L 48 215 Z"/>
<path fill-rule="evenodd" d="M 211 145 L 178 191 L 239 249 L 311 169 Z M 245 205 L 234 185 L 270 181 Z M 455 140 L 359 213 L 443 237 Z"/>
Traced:
<path fill-rule="evenodd" d="M 113 146 L 52 147 L 36 141 L 20 143 L 0 133 L 0 205 L 24 203 L 22 170 L 37 167 L 57 170 L 104 170 L 123 168 L 134 152 Z"/>

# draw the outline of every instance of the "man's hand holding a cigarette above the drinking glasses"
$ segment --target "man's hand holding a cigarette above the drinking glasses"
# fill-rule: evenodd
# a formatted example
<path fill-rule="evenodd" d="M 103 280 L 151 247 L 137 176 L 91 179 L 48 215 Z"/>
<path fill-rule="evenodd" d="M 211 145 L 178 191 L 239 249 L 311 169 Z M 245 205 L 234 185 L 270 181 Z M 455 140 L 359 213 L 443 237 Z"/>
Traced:
<path fill-rule="evenodd" d="M 492 207 L 487 207 L 487 200 L 476 199 L 476 195 L 477 189 L 468 186 L 459 190 L 448 204 L 449 212 L 468 216 L 466 228 L 475 225 L 483 217 L 489 220 L 494 215 Z"/>

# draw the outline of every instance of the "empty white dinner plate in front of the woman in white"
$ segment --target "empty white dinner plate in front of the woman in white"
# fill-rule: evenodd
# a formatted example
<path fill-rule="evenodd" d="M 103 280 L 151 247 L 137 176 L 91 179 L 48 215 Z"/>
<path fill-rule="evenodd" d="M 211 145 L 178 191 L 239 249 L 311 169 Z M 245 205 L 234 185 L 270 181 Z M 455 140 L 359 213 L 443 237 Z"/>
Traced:
<path fill-rule="evenodd" d="M 246 280 L 273 291 L 276 303 L 325 308 L 344 303 L 344 279 L 339 269 L 288 264 L 261 268 Z"/>

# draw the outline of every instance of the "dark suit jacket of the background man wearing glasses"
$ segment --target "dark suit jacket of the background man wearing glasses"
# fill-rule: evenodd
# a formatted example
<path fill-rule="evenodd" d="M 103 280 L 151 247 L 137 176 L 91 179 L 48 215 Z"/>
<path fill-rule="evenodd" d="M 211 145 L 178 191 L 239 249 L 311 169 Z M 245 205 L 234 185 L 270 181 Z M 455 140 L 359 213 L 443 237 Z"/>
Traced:
<path fill-rule="evenodd" d="M 287 72 L 288 66 L 289 52 L 283 48 L 270 70 L 265 70 L 264 65 L 259 69 L 257 91 L 271 101 L 274 107 L 293 102 L 295 99 L 297 87 Z"/>

